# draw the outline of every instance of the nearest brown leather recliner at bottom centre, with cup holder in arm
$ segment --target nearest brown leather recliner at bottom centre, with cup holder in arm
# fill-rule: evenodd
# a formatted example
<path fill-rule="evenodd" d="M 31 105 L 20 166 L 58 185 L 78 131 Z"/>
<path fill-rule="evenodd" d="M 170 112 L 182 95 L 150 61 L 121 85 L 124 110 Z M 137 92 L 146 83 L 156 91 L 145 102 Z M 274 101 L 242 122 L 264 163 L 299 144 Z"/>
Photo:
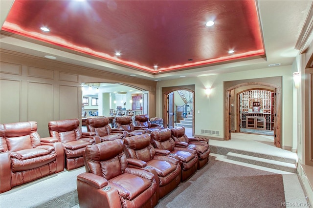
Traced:
<path fill-rule="evenodd" d="M 157 204 L 155 175 L 128 166 L 120 139 L 87 146 L 89 172 L 77 176 L 80 208 L 147 208 Z"/>

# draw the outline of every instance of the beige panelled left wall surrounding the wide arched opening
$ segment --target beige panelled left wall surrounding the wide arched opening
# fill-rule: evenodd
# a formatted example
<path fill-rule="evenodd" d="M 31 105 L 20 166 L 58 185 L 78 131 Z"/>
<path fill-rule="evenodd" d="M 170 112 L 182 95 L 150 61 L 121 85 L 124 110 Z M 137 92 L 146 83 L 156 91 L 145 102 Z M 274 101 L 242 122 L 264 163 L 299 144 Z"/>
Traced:
<path fill-rule="evenodd" d="M 0 123 L 36 121 L 41 137 L 48 122 L 81 119 L 81 83 L 124 83 L 149 92 L 155 117 L 156 82 L 1 50 Z"/>

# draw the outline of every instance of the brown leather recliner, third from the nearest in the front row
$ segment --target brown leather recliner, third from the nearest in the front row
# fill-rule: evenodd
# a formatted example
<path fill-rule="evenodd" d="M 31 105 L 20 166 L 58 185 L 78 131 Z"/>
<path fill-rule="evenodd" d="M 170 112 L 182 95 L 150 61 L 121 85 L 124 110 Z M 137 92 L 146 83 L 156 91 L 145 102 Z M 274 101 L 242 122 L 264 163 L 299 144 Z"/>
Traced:
<path fill-rule="evenodd" d="M 159 129 L 151 132 L 153 145 L 155 146 L 156 154 L 164 154 L 160 150 L 168 150 L 167 154 L 174 155 L 179 158 L 181 165 L 181 181 L 186 180 L 198 169 L 197 151 L 193 149 L 178 147 L 172 138 L 172 132 L 169 128 Z"/>

